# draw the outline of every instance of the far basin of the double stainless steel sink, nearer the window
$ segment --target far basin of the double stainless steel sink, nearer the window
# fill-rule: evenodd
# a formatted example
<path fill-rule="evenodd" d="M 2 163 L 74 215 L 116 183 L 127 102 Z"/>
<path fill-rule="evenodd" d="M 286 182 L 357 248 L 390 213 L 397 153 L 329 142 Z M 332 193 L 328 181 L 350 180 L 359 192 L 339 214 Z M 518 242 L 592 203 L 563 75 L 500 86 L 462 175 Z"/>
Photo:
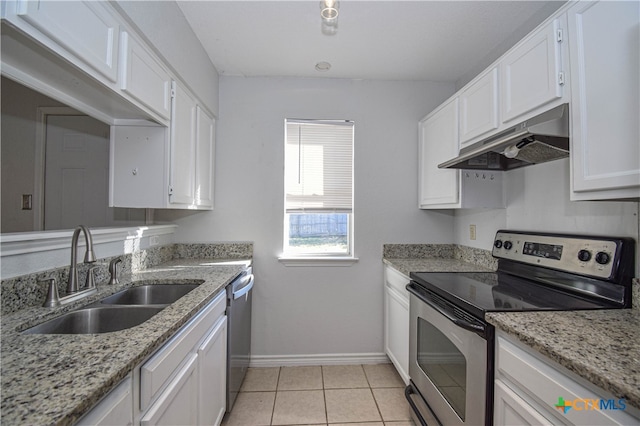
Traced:
<path fill-rule="evenodd" d="M 155 284 L 133 287 L 104 298 L 105 305 L 168 305 L 180 299 L 199 284 Z"/>

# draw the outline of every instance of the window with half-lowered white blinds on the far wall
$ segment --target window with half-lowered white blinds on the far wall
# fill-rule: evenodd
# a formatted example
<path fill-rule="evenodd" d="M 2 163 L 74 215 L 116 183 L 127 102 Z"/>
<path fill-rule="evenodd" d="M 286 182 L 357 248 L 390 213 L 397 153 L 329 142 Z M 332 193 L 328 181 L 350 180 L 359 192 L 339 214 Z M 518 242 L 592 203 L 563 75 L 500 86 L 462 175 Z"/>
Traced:
<path fill-rule="evenodd" d="M 285 120 L 284 256 L 353 256 L 351 121 Z"/>

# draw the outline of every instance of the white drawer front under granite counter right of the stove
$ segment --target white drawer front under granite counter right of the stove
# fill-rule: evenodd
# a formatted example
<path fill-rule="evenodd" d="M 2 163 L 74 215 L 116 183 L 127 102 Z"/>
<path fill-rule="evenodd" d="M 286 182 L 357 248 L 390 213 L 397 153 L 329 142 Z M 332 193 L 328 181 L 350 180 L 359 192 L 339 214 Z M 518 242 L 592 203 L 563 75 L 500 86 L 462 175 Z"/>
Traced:
<path fill-rule="evenodd" d="M 638 419 L 620 409 L 600 409 L 599 400 L 621 407 L 618 398 L 607 395 L 604 390 L 596 392 L 595 385 L 592 386 L 593 390 L 583 386 L 569 376 L 571 373 L 568 370 L 562 371 L 502 337 L 497 338 L 497 344 L 497 378 L 506 378 L 512 382 L 515 385 L 514 389 L 520 389 L 526 398 L 533 399 L 549 413 L 553 413 L 557 417 L 557 423 L 637 424 Z M 576 404 L 575 408 L 569 409 L 566 413 L 559 410 L 556 405 L 561 403 L 560 398 Z M 593 404 L 596 404 L 597 408 Z"/>

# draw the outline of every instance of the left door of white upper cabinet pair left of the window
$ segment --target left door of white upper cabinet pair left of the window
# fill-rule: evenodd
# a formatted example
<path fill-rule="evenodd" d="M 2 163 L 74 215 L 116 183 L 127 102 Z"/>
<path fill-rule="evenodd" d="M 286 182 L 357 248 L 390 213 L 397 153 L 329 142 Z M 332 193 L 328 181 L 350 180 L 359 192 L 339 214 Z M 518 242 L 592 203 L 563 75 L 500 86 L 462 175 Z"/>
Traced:
<path fill-rule="evenodd" d="M 193 205 L 196 100 L 175 81 L 172 86 L 169 203 Z"/>

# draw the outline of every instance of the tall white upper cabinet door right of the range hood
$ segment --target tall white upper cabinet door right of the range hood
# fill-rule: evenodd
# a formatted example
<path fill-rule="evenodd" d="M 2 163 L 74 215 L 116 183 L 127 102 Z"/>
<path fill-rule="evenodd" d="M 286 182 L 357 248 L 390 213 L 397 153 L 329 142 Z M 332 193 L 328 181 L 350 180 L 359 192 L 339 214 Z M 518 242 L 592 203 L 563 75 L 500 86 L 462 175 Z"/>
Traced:
<path fill-rule="evenodd" d="M 571 198 L 640 197 L 640 3 L 568 11 Z"/>

